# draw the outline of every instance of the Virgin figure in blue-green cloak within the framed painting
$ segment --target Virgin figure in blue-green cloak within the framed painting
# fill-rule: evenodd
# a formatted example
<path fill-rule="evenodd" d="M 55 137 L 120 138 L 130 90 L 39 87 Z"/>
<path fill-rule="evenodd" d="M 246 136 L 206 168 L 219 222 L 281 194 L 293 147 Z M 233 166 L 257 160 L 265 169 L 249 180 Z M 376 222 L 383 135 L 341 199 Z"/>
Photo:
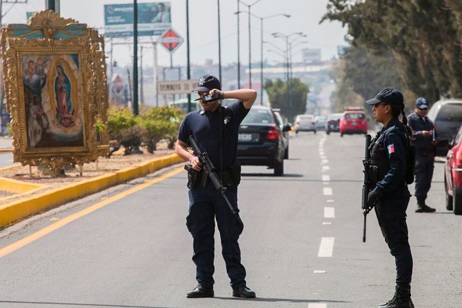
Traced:
<path fill-rule="evenodd" d="M 70 100 L 70 81 L 62 65 L 56 66 L 57 77 L 54 79 L 54 93 L 56 98 L 56 119 L 58 126 L 70 127 L 74 125 L 74 105 Z"/>

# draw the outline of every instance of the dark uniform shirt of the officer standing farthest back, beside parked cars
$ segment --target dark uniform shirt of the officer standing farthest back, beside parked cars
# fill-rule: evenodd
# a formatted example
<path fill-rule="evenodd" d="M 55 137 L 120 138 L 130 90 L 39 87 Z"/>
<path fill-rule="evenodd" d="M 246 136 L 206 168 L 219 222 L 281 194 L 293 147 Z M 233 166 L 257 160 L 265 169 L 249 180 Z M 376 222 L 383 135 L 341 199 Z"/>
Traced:
<path fill-rule="evenodd" d="M 430 154 L 433 152 L 432 139 L 433 136 L 424 137 L 423 130 L 433 130 L 433 122 L 428 119 L 428 116 L 420 117 L 416 112 L 412 112 L 408 116 L 408 126 L 412 128 L 414 139 L 412 144 L 416 147 L 416 154 Z M 434 130 L 434 138 L 436 138 L 436 130 Z"/>

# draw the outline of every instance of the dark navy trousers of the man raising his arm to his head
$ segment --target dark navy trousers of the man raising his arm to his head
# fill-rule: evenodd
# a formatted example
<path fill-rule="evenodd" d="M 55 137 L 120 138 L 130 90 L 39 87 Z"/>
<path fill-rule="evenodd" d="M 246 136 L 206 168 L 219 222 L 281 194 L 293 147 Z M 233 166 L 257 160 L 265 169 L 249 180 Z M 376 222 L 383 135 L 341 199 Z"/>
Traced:
<path fill-rule="evenodd" d="M 226 196 L 237 208 L 237 187 L 228 187 Z M 215 218 L 221 238 L 221 254 L 232 289 L 245 286 L 245 268 L 241 264 L 241 249 L 237 240 L 242 233 L 243 223 L 239 214 L 232 214 L 228 203 L 212 183 L 189 191 L 189 214 L 186 226 L 193 238 L 196 265 L 196 280 L 203 287 L 213 287 L 214 280 L 214 232 Z"/>

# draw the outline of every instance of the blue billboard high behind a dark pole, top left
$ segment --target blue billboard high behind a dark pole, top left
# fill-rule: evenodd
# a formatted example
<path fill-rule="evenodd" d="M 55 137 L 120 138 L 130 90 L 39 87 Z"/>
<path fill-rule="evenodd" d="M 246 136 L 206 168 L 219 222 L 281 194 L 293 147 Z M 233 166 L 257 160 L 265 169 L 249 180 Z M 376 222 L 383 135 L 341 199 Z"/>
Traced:
<path fill-rule="evenodd" d="M 104 6 L 106 37 L 133 36 L 133 3 Z M 172 25 L 170 2 L 138 3 L 138 35 L 157 36 Z"/>

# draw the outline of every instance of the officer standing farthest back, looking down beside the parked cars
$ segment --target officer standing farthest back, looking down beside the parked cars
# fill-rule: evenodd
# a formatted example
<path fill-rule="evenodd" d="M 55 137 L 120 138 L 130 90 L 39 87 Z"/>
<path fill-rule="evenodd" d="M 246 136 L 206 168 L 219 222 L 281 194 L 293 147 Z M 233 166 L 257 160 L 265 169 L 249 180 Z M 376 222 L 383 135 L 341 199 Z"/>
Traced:
<path fill-rule="evenodd" d="M 414 112 L 408 116 L 408 125 L 412 128 L 412 144 L 416 149 L 416 213 L 432 213 L 435 209 L 425 203 L 432 185 L 434 156 L 436 154 L 436 130 L 432 120 L 428 119 L 428 103 L 423 97 L 416 100 Z"/>

